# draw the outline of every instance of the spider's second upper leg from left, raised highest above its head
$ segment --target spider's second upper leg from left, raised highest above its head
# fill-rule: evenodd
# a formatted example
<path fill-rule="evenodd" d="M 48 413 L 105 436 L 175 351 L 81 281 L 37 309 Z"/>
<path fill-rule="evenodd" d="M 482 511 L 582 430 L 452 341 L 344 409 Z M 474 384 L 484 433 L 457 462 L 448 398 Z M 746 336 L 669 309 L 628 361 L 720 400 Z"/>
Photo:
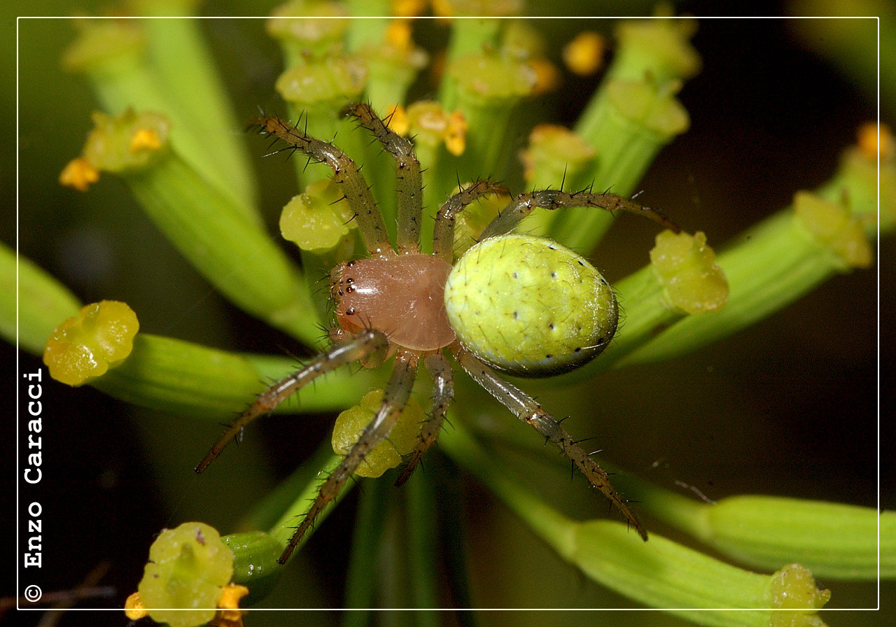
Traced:
<path fill-rule="evenodd" d="M 398 178 L 398 235 L 395 247 L 399 253 L 419 253 L 423 178 L 413 145 L 386 126 L 366 102 L 350 105 L 346 112 L 358 118 L 360 125 L 372 133 L 395 159 L 395 175 Z"/>

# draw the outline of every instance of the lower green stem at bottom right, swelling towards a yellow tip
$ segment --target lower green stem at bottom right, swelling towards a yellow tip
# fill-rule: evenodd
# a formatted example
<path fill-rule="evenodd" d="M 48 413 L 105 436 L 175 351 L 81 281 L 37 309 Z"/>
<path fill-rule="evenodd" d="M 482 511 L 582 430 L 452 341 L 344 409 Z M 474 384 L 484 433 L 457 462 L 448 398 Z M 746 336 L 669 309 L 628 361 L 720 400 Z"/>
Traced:
<path fill-rule="evenodd" d="M 444 432 L 439 443 L 455 462 L 487 485 L 539 537 L 590 579 L 648 606 L 683 608 L 670 611 L 694 623 L 770 624 L 773 601 L 769 576 L 719 562 L 658 534 L 642 542 L 617 522 L 570 520 L 496 465 L 460 424 Z M 698 608 L 719 611 L 701 612 Z"/>

